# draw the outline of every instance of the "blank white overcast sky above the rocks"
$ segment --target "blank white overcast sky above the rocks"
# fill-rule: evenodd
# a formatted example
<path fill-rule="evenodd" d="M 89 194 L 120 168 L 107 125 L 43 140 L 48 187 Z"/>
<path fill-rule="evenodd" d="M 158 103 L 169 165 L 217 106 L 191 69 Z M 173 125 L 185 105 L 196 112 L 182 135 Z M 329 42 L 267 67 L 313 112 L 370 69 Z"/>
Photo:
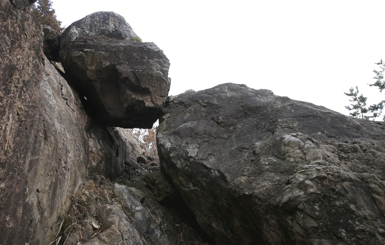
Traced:
<path fill-rule="evenodd" d="M 90 13 L 122 15 L 170 60 L 169 95 L 233 82 L 348 115 L 358 86 L 367 104 L 385 60 L 383 0 L 52 0 L 62 24 Z M 377 120 L 380 120 L 377 119 Z"/>

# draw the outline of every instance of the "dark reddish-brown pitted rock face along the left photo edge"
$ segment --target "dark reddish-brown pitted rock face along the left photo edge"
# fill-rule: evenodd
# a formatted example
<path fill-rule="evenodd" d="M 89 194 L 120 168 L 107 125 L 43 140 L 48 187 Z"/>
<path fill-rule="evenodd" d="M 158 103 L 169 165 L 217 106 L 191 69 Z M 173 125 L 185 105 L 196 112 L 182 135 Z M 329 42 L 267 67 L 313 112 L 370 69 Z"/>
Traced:
<path fill-rule="evenodd" d="M 28 166 L 42 130 L 39 87 L 43 74 L 40 25 L 28 1 L 0 0 L 0 244 L 34 237 L 37 220 Z M 33 166 L 33 165 L 32 165 Z"/>

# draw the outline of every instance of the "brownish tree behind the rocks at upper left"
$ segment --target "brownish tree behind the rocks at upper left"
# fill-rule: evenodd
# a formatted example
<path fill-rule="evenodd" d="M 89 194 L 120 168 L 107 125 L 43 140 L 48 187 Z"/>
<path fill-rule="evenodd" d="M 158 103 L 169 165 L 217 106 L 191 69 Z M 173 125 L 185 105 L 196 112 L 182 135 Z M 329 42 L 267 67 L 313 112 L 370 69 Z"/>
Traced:
<path fill-rule="evenodd" d="M 49 25 L 57 32 L 63 32 L 62 22 L 56 19 L 55 10 L 52 8 L 50 0 L 38 0 L 32 7 L 32 15 L 39 20 L 42 25 Z"/>

